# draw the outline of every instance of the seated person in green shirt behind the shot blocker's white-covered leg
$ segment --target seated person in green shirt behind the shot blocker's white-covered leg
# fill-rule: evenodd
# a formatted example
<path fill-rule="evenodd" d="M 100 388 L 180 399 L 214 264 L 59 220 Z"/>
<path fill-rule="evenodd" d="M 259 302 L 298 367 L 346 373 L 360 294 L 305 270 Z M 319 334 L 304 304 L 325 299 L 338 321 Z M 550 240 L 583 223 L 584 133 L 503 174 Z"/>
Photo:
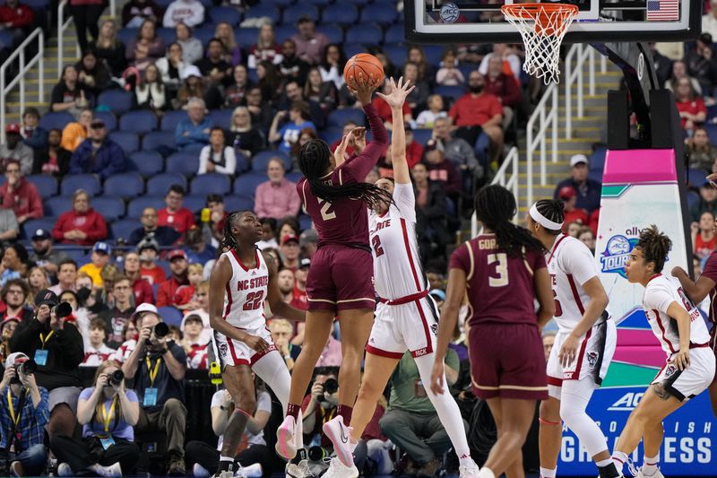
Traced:
<path fill-rule="evenodd" d="M 445 378 L 453 385 L 458 378 L 460 362 L 453 349 L 445 355 Z M 408 469 L 419 476 L 433 476 L 441 467 L 451 440 L 428 398 L 419 369 L 410 352 L 405 352 L 391 377 L 388 410 L 378 424 L 384 435 L 406 452 Z M 465 426 L 465 423 L 464 423 Z"/>

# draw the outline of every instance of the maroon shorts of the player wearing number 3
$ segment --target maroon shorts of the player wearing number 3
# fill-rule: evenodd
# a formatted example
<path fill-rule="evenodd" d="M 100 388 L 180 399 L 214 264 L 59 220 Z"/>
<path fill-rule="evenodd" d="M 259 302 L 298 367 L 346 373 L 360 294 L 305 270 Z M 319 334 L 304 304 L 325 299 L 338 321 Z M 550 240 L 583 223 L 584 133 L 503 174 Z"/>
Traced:
<path fill-rule="evenodd" d="M 547 400 L 545 353 L 537 326 L 471 326 L 468 347 L 473 394 L 483 399 Z"/>

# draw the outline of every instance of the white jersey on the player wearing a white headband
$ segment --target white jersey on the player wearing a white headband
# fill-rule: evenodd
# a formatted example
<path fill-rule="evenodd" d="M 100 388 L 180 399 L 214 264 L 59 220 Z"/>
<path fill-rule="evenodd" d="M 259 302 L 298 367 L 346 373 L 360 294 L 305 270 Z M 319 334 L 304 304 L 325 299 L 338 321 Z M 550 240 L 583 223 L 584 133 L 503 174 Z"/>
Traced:
<path fill-rule="evenodd" d="M 598 275 L 595 258 L 580 240 L 561 234 L 545 259 L 556 300 L 555 321 L 560 332 L 572 332 L 590 301 L 583 283 Z"/>

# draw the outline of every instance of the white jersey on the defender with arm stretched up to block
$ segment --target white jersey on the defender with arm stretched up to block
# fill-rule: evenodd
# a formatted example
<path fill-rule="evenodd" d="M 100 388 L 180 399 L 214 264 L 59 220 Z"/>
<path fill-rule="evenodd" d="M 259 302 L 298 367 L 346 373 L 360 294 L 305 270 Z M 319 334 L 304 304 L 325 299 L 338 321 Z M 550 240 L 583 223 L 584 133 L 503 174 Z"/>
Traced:
<path fill-rule="evenodd" d="M 397 183 L 393 203 L 383 214 L 370 211 L 368 215 L 376 294 L 386 300 L 417 294 L 427 287 L 419 262 L 413 185 Z"/>

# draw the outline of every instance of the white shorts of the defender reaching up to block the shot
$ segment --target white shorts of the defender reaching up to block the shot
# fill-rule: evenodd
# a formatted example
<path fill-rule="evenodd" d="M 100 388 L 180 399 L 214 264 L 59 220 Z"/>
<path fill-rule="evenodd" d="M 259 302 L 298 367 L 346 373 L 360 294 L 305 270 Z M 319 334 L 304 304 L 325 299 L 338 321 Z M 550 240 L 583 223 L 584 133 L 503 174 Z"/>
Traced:
<path fill-rule="evenodd" d="M 401 359 L 407 350 L 413 357 L 432 353 L 438 334 L 436 310 L 430 296 L 401 305 L 379 302 L 366 352 L 393 359 Z"/>

